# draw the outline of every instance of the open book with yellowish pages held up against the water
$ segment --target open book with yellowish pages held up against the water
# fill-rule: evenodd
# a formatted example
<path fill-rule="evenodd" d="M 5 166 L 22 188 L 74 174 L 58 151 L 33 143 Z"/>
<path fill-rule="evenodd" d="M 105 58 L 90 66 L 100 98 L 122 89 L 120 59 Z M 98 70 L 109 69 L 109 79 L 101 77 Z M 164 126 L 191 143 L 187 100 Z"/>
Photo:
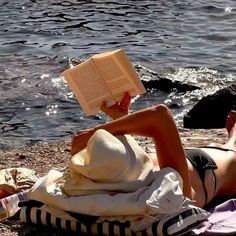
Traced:
<path fill-rule="evenodd" d="M 63 72 L 69 87 L 86 115 L 119 102 L 125 92 L 131 96 L 145 93 L 145 88 L 124 50 L 97 54 Z"/>

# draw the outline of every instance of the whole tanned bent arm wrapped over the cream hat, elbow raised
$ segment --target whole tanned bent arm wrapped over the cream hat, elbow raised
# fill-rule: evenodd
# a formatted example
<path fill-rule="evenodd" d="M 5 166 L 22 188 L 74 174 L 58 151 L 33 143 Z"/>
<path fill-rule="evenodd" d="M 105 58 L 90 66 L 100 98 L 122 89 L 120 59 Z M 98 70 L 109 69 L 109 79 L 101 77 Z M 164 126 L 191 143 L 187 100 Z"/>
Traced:
<path fill-rule="evenodd" d="M 191 185 L 185 157 L 178 129 L 170 110 L 164 105 L 147 108 L 123 116 L 117 120 L 100 125 L 92 130 L 83 131 L 75 136 L 72 149 L 80 146 L 82 138 L 89 139 L 98 129 L 105 129 L 114 135 L 134 134 L 152 137 L 156 149 L 160 168 L 172 167 L 183 179 L 184 195 L 192 199 Z"/>

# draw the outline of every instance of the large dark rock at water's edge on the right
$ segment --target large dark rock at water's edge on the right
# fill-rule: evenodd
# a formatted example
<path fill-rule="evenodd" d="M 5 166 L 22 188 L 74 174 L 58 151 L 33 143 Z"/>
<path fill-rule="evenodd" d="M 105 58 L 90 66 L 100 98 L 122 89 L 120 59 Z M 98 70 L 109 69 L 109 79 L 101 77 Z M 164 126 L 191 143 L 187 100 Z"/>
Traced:
<path fill-rule="evenodd" d="M 236 110 L 236 83 L 202 98 L 184 116 L 185 128 L 224 128 L 230 110 Z"/>

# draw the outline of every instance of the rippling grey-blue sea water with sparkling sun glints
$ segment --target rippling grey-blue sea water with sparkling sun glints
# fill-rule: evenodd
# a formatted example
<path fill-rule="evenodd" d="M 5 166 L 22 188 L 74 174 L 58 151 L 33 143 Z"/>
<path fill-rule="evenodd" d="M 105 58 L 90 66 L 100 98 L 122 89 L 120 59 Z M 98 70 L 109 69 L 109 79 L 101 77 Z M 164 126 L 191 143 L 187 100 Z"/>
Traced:
<path fill-rule="evenodd" d="M 60 76 L 70 61 L 123 48 L 142 79 L 164 76 L 200 89 L 152 88 L 131 110 L 177 104 L 183 115 L 203 96 L 235 82 L 236 2 L 0 1 L 0 148 L 71 138 L 107 120 L 86 117 Z"/>

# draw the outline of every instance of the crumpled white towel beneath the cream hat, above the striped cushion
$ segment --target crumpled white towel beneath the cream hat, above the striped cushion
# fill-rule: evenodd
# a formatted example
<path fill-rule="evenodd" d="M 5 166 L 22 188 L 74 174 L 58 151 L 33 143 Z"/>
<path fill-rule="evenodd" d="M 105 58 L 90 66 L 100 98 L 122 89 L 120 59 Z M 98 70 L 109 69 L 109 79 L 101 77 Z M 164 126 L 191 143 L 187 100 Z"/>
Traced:
<path fill-rule="evenodd" d="M 172 214 L 180 211 L 185 199 L 182 179 L 171 168 L 154 171 L 152 183 L 134 192 L 110 194 L 107 191 L 76 197 L 63 193 L 63 174 L 51 170 L 31 188 L 30 198 L 65 211 L 95 216 Z"/>

